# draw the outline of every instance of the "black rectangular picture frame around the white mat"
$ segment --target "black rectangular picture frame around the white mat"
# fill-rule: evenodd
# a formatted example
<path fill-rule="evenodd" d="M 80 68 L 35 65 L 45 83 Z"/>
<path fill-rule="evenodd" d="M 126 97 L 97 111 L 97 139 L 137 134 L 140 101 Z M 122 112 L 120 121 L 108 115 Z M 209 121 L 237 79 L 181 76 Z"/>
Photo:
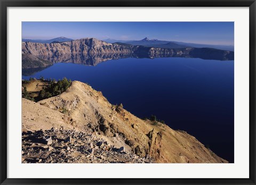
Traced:
<path fill-rule="evenodd" d="M 1 184 L 256 184 L 255 182 L 255 0 L 0 0 L 0 182 Z M 7 178 L 7 7 L 250 7 L 250 177 L 249 179 L 9 179 Z"/>

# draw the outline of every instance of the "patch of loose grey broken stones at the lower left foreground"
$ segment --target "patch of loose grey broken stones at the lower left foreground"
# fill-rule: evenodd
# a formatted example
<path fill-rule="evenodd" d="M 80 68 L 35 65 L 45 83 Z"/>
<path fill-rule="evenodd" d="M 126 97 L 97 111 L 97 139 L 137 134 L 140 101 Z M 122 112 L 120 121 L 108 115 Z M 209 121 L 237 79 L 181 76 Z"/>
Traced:
<path fill-rule="evenodd" d="M 46 139 L 52 143 L 42 144 Z M 109 145 L 95 133 L 65 129 L 22 133 L 21 153 L 22 163 L 144 163 L 141 157 L 127 154 L 124 147 Z M 145 162 L 151 163 L 153 159 Z"/>

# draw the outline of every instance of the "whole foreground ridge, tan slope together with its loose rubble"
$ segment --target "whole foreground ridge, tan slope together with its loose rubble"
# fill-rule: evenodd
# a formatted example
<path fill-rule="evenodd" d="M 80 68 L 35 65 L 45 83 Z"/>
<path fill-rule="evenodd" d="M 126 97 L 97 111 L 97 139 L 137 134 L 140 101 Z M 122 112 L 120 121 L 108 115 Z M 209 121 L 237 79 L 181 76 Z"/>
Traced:
<path fill-rule="evenodd" d="M 37 103 L 22 98 L 23 163 L 227 163 L 185 131 L 142 120 L 74 81 Z"/>

